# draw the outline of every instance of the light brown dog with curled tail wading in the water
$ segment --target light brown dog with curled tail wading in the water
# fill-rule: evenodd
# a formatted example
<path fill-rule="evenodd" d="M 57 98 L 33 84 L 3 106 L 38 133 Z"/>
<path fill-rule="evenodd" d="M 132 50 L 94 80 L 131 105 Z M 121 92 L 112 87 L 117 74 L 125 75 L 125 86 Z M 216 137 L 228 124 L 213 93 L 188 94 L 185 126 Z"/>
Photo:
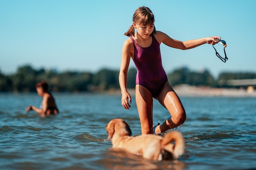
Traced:
<path fill-rule="evenodd" d="M 112 119 L 106 130 L 113 148 L 122 148 L 146 159 L 173 160 L 184 153 L 184 138 L 175 130 L 166 133 L 164 137 L 153 134 L 131 137 L 130 127 L 123 119 Z M 175 144 L 171 144 L 173 140 Z"/>

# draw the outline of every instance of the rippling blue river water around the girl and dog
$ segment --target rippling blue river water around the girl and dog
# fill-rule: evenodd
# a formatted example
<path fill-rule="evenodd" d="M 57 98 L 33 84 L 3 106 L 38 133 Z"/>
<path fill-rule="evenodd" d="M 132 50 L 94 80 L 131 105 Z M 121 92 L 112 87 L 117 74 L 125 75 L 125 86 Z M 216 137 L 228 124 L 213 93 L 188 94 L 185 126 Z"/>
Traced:
<path fill-rule="evenodd" d="M 0 93 L 1 170 L 252 170 L 256 169 L 255 97 L 180 97 L 187 119 L 177 128 L 185 154 L 177 161 L 150 161 L 111 149 L 106 124 L 128 122 L 132 135 L 140 123 L 121 95 L 53 93 L 61 113 L 40 117 L 37 93 Z M 154 100 L 154 124 L 169 116 Z"/>

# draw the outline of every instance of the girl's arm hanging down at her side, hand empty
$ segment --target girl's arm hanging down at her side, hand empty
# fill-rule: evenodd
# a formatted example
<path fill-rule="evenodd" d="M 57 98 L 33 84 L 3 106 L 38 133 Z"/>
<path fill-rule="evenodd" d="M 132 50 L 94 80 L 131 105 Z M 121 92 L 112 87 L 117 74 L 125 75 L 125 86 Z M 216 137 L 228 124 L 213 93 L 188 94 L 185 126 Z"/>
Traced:
<path fill-rule="evenodd" d="M 122 99 L 121 103 L 125 109 L 130 108 L 132 102 L 130 94 L 127 91 L 127 72 L 130 64 L 130 57 L 132 56 L 133 44 L 130 38 L 124 42 L 122 49 L 122 59 L 119 72 L 119 85 L 121 88 Z M 129 103 L 128 103 L 129 101 Z"/>

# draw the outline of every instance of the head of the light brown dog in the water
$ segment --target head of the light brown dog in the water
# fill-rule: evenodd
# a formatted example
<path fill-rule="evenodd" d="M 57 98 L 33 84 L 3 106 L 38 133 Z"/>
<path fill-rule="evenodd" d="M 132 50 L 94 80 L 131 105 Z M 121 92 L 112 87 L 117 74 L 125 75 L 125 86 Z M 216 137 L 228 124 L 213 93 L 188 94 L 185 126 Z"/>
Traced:
<path fill-rule="evenodd" d="M 106 126 L 108 139 L 117 134 L 120 137 L 132 135 L 129 125 L 123 119 L 112 119 Z"/>

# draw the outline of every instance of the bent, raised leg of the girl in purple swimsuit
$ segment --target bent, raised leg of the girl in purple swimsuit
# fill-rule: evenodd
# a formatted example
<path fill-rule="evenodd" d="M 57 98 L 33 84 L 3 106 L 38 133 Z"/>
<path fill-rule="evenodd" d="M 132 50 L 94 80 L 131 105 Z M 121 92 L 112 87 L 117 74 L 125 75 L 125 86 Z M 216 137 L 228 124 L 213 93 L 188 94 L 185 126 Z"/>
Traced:
<path fill-rule="evenodd" d="M 180 98 L 177 96 L 169 82 L 164 84 L 162 91 L 157 97 L 157 100 L 169 111 L 171 117 L 168 117 L 162 124 L 160 124 L 160 126 L 157 126 L 155 133 L 164 132 L 184 123 L 186 120 L 185 109 L 182 106 Z"/>

